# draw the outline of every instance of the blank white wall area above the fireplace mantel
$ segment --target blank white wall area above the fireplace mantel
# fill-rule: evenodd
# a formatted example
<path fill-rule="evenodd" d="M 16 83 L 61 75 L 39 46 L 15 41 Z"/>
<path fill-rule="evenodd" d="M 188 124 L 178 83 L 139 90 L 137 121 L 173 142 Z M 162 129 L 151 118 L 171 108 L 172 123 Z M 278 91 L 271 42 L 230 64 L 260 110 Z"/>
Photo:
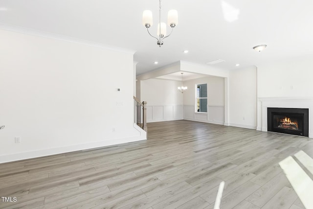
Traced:
<path fill-rule="evenodd" d="M 258 66 L 258 97 L 313 97 L 313 60 Z"/>

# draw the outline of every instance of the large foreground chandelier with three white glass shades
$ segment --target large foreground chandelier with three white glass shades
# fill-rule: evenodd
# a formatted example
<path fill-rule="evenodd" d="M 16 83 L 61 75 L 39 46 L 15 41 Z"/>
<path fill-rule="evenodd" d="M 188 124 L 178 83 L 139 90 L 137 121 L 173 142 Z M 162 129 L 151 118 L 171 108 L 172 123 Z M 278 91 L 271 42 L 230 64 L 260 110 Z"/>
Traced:
<path fill-rule="evenodd" d="M 142 24 L 147 28 L 147 31 L 150 36 L 156 38 L 157 42 L 156 44 L 161 47 L 163 45 L 163 39 L 166 37 L 169 37 L 171 33 L 173 32 L 174 27 L 178 24 L 178 13 L 177 10 L 170 10 L 168 11 L 168 16 L 167 16 L 167 24 L 172 28 L 172 31 L 169 35 L 166 36 L 166 24 L 161 23 L 161 0 L 159 4 L 159 22 L 157 24 L 157 36 L 155 37 L 151 35 L 149 32 L 149 27 L 153 25 L 153 20 L 152 20 L 152 12 L 150 10 L 145 10 L 142 13 Z"/>

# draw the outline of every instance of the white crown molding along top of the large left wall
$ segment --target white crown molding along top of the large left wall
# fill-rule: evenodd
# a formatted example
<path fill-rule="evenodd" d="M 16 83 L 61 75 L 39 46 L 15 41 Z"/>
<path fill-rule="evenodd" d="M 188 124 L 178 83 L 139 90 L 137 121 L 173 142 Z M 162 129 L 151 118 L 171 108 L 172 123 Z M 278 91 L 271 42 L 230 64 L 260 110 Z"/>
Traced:
<path fill-rule="evenodd" d="M 135 50 L 128 49 L 128 48 L 109 46 L 109 45 L 101 44 L 98 42 L 88 41 L 88 40 L 84 40 L 84 39 L 78 39 L 78 38 L 64 36 L 64 35 L 60 35 L 60 34 L 56 34 L 56 33 L 49 33 L 49 32 L 45 32 L 42 30 L 36 30 L 36 29 L 21 27 L 21 26 L 12 25 L 12 24 L 0 23 L 0 29 L 13 31 L 13 32 L 17 32 L 17 33 L 28 34 L 28 35 L 32 35 L 32 36 L 48 38 L 48 39 L 55 39 L 55 40 L 65 41 L 65 42 L 70 42 L 70 43 L 75 43 L 75 44 L 92 46 L 92 47 L 97 47 L 97 48 L 102 48 L 102 49 L 107 49 L 107 50 L 112 50 L 112 51 L 130 53 L 133 55 L 136 52 Z"/>

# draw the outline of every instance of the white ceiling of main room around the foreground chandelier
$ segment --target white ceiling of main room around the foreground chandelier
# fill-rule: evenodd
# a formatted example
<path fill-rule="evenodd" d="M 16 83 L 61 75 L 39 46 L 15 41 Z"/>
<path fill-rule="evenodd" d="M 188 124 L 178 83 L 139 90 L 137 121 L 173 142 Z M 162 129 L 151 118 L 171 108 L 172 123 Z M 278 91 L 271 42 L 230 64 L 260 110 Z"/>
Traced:
<path fill-rule="evenodd" d="M 233 70 L 313 55 L 312 0 L 163 0 L 162 20 L 177 9 L 179 24 L 162 47 L 141 23 L 145 9 L 155 34 L 158 0 L 1 0 L 0 23 L 133 49 L 137 74 L 179 60 Z"/>

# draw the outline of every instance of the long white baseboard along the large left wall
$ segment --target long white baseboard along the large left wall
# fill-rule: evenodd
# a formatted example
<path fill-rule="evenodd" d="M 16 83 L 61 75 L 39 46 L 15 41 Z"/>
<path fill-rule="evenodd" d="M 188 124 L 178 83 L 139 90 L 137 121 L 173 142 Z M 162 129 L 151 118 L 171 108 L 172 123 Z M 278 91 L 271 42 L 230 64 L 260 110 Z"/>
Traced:
<path fill-rule="evenodd" d="M 98 148 L 98 147 L 140 141 L 140 140 L 145 140 L 145 139 L 147 138 L 144 135 L 141 135 L 141 136 L 136 136 L 136 137 L 131 137 L 131 138 L 111 139 L 111 140 L 98 141 L 98 142 L 92 142 L 92 143 L 86 143 L 86 144 L 76 144 L 76 145 L 67 146 L 67 147 L 56 147 L 56 148 L 51 148 L 51 149 L 35 150 L 35 151 L 15 153 L 15 154 L 10 154 L 10 155 L 2 155 L 0 156 L 0 159 L 1 159 L 0 163 L 20 161 L 20 160 L 25 160 L 25 159 L 49 156 L 49 155 L 57 155 L 57 154 L 62 154 L 62 153 L 67 153 L 67 152 L 73 152 L 73 151 L 79 151 L 79 150 L 85 150 L 85 149 L 93 149 L 93 148 Z"/>

